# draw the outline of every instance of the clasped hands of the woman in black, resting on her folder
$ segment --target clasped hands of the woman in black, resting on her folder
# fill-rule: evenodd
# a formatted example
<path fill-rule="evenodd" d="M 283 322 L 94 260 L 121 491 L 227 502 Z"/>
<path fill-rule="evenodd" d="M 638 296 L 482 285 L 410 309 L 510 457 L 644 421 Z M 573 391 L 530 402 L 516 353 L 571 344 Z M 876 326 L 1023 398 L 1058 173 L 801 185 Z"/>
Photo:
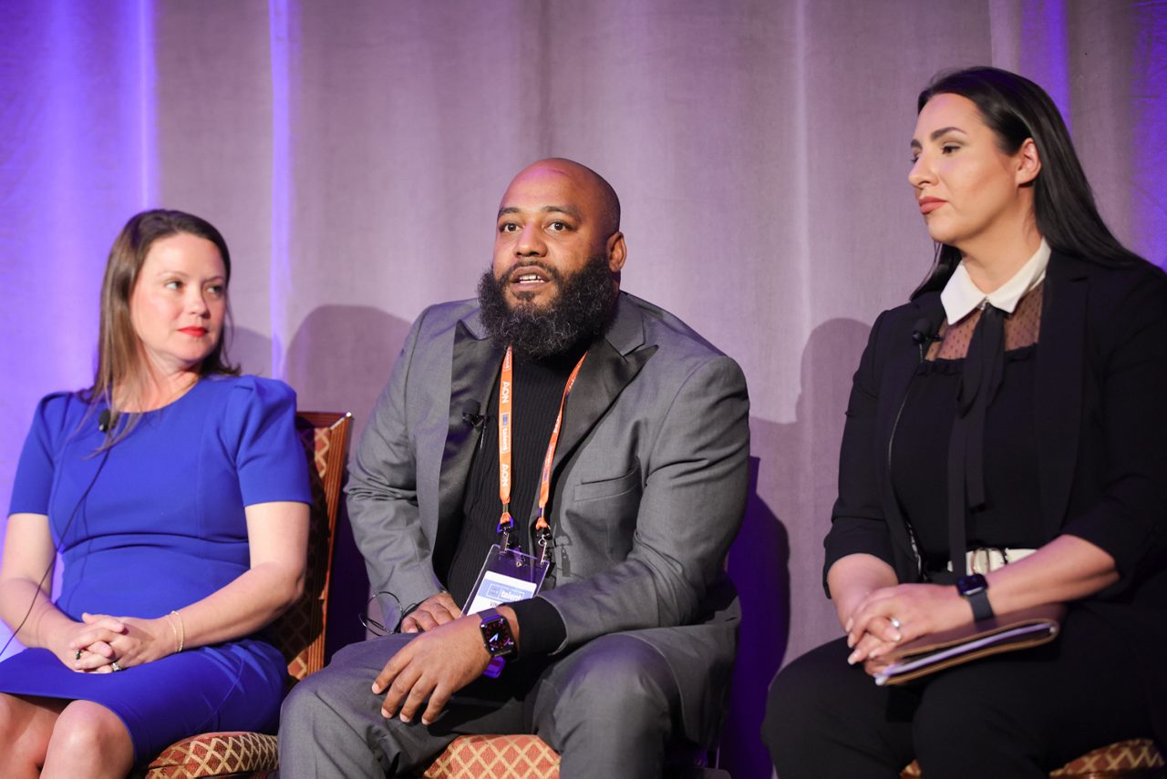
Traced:
<path fill-rule="evenodd" d="M 864 671 L 874 676 L 899 645 L 970 622 L 972 610 L 951 585 L 896 584 L 872 590 L 843 626 L 847 646 L 854 650 L 847 662 L 862 662 Z"/>

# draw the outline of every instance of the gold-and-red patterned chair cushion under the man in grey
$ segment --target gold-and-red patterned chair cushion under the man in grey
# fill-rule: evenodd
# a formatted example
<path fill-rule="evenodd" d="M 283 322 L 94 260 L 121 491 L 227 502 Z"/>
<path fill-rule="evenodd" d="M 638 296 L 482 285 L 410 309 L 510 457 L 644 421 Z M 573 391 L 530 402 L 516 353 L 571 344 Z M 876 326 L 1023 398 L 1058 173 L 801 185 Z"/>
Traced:
<path fill-rule="evenodd" d="M 558 779 L 559 755 L 538 736 L 459 736 L 425 779 Z"/>

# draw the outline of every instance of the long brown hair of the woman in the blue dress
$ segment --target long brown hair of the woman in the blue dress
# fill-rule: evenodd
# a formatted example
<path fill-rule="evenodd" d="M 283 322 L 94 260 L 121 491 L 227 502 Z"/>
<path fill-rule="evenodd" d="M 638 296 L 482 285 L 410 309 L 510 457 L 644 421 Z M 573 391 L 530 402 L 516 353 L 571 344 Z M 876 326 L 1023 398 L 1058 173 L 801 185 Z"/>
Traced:
<path fill-rule="evenodd" d="M 126 226 L 121 229 L 117 240 L 113 241 L 110 257 L 105 262 L 97 343 L 97 371 L 93 374 L 93 386 L 86 391 L 86 400 L 91 405 L 104 400 L 107 406 L 112 407 L 113 388 L 125 385 L 142 371 L 141 343 L 130 317 L 130 296 L 133 294 L 138 274 L 141 273 L 142 264 L 146 261 L 146 255 L 154 241 L 179 233 L 205 238 L 215 244 L 219 257 L 223 258 L 226 282 L 231 281 L 231 253 L 228 251 L 222 233 L 211 223 L 191 213 L 163 209 L 142 211 L 132 216 Z M 230 307 L 223 332 L 219 335 L 215 349 L 202 362 L 198 369 L 200 376 L 239 374 L 239 367 L 231 365 L 226 356 L 229 322 Z M 128 433 L 128 429 L 123 427 L 117 437 L 121 437 L 125 433 Z"/>

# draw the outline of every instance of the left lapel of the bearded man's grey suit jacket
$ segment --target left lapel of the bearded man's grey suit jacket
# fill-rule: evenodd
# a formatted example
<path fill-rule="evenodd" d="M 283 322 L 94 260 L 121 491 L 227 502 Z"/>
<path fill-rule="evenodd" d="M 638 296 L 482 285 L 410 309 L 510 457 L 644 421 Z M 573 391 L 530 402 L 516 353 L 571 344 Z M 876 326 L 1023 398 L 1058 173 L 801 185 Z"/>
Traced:
<path fill-rule="evenodd" d="M 438 536 L 452 527 L 452 519 L 461 517 L 462 496 L 469 479 L 470 461 L 481 433 L 463 414 L 489 415 L 487 403 L 494 380 L 502 366 L 502 350 L 489 338 L 476 335 L 476 317 L 459 322 L 454 332 L 450 360 L 449 430 L 442 451 L 441 475 L 438 487 Z"/>

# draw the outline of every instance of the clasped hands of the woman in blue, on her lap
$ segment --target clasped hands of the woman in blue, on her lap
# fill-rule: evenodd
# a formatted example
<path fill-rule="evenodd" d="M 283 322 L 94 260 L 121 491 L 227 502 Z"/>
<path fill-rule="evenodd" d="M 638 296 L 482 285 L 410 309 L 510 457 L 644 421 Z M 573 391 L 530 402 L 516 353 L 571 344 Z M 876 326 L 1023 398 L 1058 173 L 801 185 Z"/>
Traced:
<path fill-rule="evenodd" d="M 57 657 L 81 673 L 111 673 L 114 662 L 130 668 L 159 660 L 174 652 L 173 637 L 163 623 L 165 618 L 83 613 L 82 622 L 63 631 L 58 645 L 64 650 Z"/>

